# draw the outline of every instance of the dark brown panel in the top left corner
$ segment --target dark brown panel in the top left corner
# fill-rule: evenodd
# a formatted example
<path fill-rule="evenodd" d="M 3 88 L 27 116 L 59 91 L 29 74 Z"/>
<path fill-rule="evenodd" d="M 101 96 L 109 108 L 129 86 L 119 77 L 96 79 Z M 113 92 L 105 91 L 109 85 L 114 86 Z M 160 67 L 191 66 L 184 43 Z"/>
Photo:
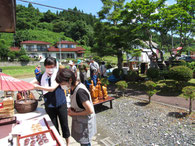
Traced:
<path fill-rule="evenodd" d="M 16 0 L 0 0 L 0 32 L 15 32 Z"/>

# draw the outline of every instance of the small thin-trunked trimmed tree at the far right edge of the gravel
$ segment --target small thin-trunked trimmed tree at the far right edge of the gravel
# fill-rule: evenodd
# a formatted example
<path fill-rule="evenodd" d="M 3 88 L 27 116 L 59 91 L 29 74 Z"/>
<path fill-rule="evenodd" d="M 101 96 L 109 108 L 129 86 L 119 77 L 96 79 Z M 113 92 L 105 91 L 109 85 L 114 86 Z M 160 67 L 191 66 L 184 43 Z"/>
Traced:
<path fill-rule="evenodd" d="M 184 87 L 183 95 L 186 97 L 186 99 L 189 99 L 189 114 L 192 113 L 192 100 L 195 99 L 195 87 L 194 86 L 187 86 Z"/>

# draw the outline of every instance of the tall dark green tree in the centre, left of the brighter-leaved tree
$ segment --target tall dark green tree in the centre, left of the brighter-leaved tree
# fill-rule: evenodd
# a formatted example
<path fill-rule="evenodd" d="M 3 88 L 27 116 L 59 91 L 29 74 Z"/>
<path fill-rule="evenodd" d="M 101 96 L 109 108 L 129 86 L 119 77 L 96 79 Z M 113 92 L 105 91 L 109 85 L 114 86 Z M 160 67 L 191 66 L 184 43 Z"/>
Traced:
<path fill-rule="evenodd" d="M 99 12 L 100 22 L 95 25 L 95 47 L 99 55 L 116 55 L 118 68 L 122 69 L 123 53 L 135 49 L 140 44 L 134 23 L 125 21 L 124 0 L 102 0 L 103 7 Z M 128 15 L 133 20 L 134 15 Z M 105 22 L 102 22 L 105 21 Z"/>

